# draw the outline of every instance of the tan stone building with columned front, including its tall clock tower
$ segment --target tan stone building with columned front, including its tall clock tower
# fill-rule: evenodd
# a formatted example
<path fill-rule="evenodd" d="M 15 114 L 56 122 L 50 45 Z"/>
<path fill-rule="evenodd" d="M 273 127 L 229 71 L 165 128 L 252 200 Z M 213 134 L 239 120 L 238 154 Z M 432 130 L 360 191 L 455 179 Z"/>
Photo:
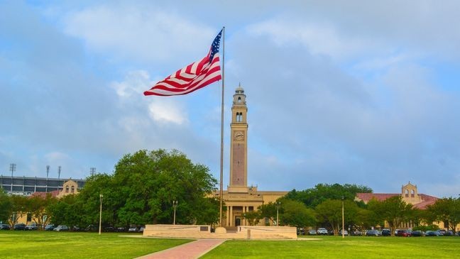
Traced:
<path fill-rule="evenodd" d="M 256 211 L 258 206 L 275 202 L 288 192 L 259 191 L 255 186 L 248 186 L 248 107 L 246 94 L 241 85 L 236 88 L 231 106 L 230 124 L 230 181 L 227 190 L 223 191 L 226 206 L 224 226 L 248 226 L 244 219 L 246 212 Z M 214 193 L 219 197 L 219 192 Z M 270 225 L 268 219 L 259 223 Z"/>

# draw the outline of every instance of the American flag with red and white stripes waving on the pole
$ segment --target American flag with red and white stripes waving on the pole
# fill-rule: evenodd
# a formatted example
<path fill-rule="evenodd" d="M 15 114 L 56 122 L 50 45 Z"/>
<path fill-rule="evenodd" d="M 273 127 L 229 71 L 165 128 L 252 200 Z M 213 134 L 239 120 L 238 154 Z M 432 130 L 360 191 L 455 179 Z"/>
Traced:
<path fill-rule="evenodd" d="M 178 70 L 156 83 L 144 95 L 180 95 L 194 92 L 208 84 L 222 79 L 219 64 L 219 46 L 222 31 L 214 38 L 209 53 L 202 60 Z"/>

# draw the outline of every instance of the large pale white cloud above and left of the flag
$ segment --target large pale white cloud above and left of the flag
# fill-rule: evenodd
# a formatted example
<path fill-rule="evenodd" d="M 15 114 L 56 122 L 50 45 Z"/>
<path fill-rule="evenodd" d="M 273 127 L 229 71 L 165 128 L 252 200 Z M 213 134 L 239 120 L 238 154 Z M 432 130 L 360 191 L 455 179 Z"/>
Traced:
<path fill-rule="evenodd" d="M 216 31 L 185 17 L 153 5 L 111 2 L 69 13 L 64 23 L 66 33 L 111 57 L 164 61 L 185 56 L 195 60 L 206 54 L 206 48 L 203 53 L 196 51 L 209 45 Z"/>

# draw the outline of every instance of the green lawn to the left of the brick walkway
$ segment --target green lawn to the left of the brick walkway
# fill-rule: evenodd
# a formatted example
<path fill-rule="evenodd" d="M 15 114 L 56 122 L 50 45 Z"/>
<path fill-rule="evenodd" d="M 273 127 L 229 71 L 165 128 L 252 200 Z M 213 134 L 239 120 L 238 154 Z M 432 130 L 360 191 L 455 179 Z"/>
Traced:
<path fill-rule="evenodd" d="M 122 234 L 128 233 L 0 231 L 0 258 L 135 258 L 190 241 Z"/>

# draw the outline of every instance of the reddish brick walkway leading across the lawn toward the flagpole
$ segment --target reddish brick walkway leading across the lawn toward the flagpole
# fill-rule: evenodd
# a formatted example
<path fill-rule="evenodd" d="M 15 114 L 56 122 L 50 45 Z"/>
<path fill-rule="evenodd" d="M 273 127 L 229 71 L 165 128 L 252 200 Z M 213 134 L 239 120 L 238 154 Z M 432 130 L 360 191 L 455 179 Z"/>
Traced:
<path fill-rule="evenodd" d="M 144 255 L 137 259 L 195 259 L 224 242 L 224 239 L 199 239 L 197 241 L 185 243 L 183 245 L 175 246 L 156 253 L 150 253 L 149 255 Z"/>

